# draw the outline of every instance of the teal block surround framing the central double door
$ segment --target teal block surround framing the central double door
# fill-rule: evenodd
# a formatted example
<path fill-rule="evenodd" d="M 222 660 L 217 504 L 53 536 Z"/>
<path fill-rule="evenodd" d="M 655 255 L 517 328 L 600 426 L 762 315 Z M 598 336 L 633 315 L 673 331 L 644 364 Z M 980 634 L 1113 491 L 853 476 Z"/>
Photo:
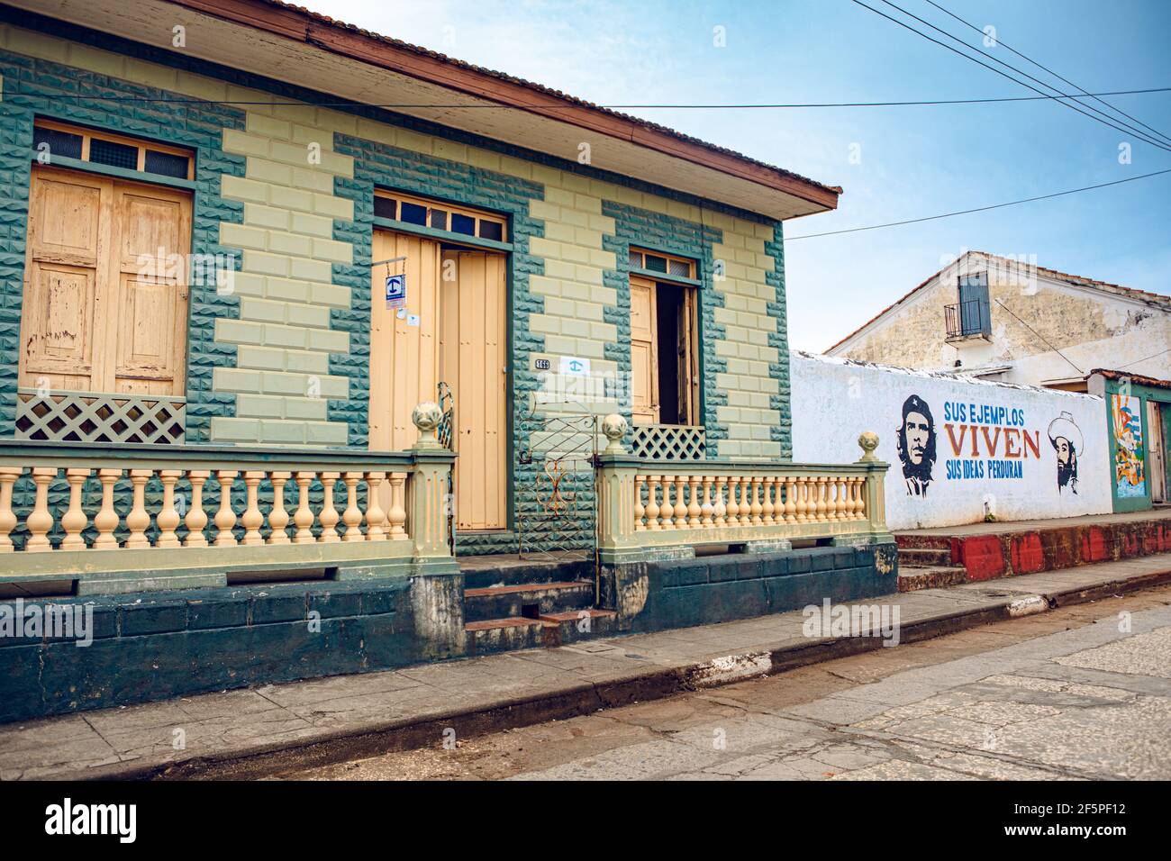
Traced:
<path fill-rule="evenodd" d="M 545 199 L 545 186 L 506 173 L 341 132 L 334 135 L 334 149 L 354 158 L 354 177 L 338 177 L 335 180 L 335 193 L 354 201 L 354 221 L 334 221 L 334 239 L 354 246 L 354 262 L 334 264 L 334 282 L 350 288 L 351 301 L 350 308 L 331 312 L 331 326 L 350 333 L 350 351 L 330 356 L 330 373 L 350 377 L 350 397 L 347 401 L 330 401 L 329 417 L 349 423 L 352 446 L 364 447 L 369 439 L 370 262 L 376 226 L 374 190 L 402 189 L 408 193 L 452 200 L 508 217 L 512 251 L 508 253 L 507 283 L 512 324 L 507 409 L 513 416 L 509 440 L 512 525 L 518 513 L 533 511 L 537 506 L 534 496 L 537 466 L 519 464 L 511 455 L 527 449 L 529 435 L 541 426 L 540 421 L 528 419 L 526 416 L 529 394 L 540 388 L 537 375 L 532 370 L 530 355 L 545 349 L 545 337 L 533 334 L 528 326 L 529 314 L 545 309 L 543 298 L 532 294 L 528 286 L 529 275 L 545 274 L 543 259 L 529 252 L 529 240 L 545 235 L 545 221 L 529 216 L 529 205 L 533 200 Z M 377 219 L 377 223 L 389 230 L 403 227 L 398 221 Z M 451 238 L 461 244 L 466 244 L 468 239 L 459 233 L 436 233 L 440 234 L 436 238 Z M 458 403 L 456 409 L 459 409 Z M 458 537 L 457 540 L 463 553 L 516 551 L 516 539 L 512 531 Z"/>

